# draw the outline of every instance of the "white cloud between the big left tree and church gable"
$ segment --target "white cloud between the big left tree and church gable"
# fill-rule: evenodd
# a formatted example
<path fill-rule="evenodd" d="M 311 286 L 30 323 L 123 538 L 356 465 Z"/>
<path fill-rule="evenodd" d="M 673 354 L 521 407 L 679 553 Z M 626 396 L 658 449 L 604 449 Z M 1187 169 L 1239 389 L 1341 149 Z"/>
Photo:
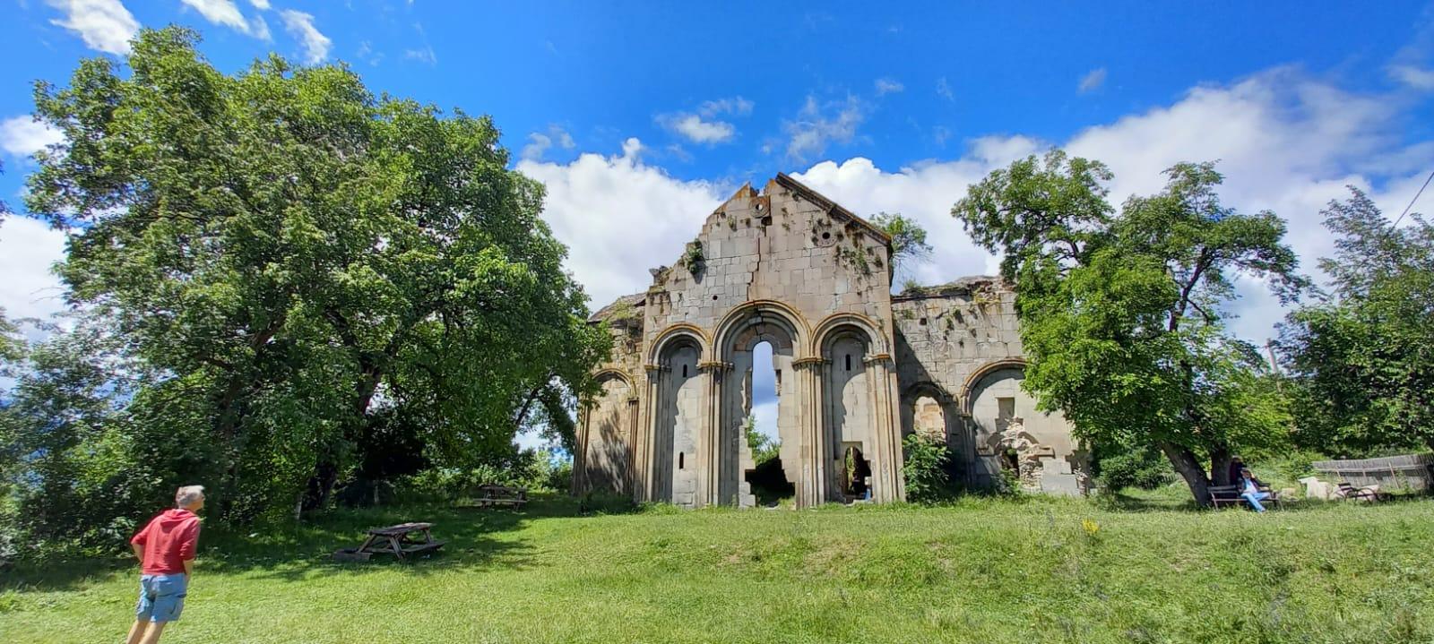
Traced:
<path fill-rule="evenodd" d="M 736 186 L 681 181 L 647 165 L 642 143 L 627 139 L 622 153 L 584 153 L 569 164 L 532 159 L 518 171 L 543 182 L 543 219 L 568 245 L 566 267 L 587 287 L 592 307 L 645 290 L 647 273 L 673 264 L 707 215 Z"/>

